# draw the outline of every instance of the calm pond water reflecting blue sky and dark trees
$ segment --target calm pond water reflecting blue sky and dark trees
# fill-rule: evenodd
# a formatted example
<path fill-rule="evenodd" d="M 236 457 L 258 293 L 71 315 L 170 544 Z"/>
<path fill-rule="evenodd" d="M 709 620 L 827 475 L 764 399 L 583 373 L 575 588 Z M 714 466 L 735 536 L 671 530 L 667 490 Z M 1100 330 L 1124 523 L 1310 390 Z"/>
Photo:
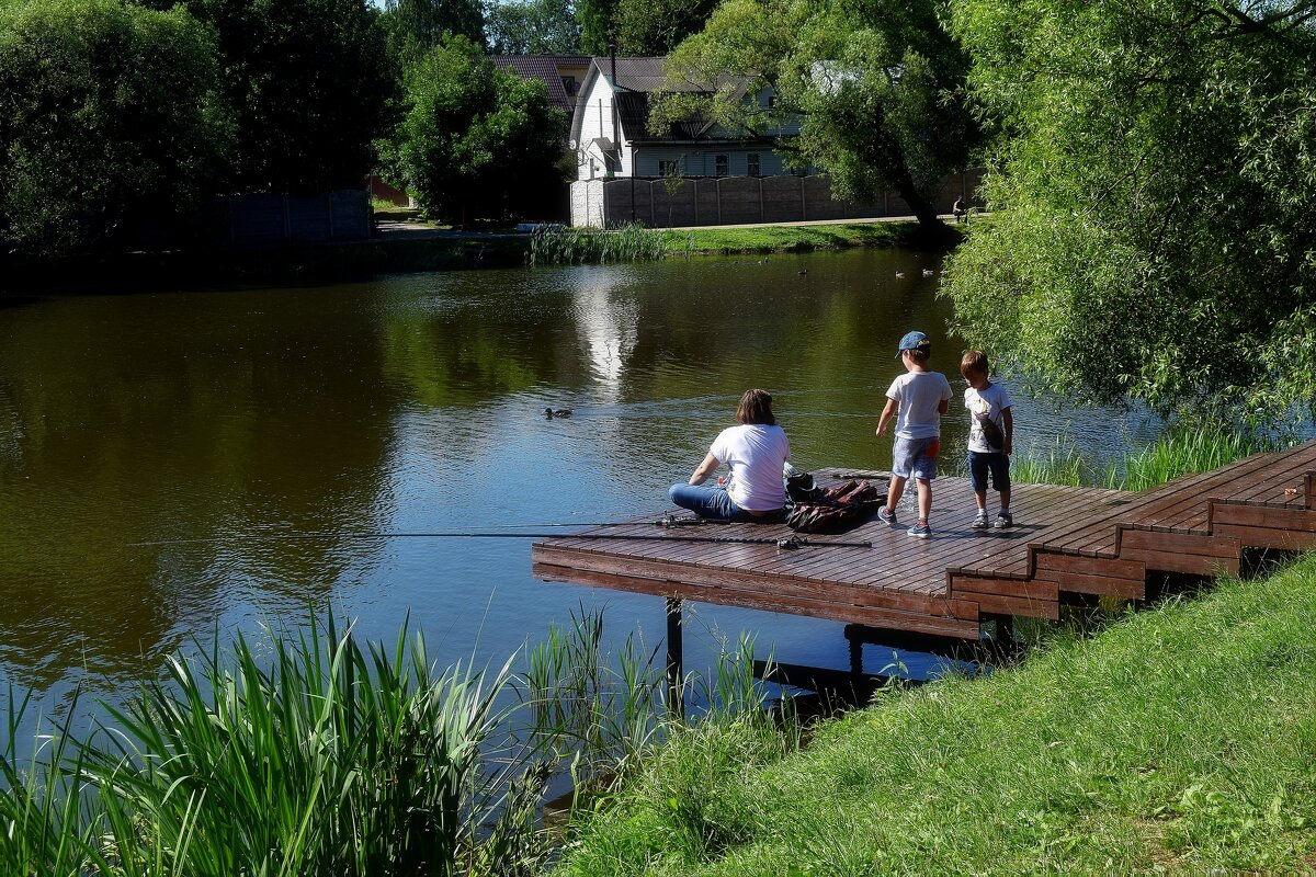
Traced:
<path fill-rule="evenodd" d="M 940 267 L 867 250 L 0 298 L 0 677 L 53 709 L 74 685 L 113 699 L 193 638 L 312 607 L 390 640 L 409 615 L 443 664 L 500 665 L 582 605 L 657 646 L 661 600 L 537 581 L 529 539 L 353 534 L 657 515 L 749 387 L 796 465 L 888 468 L 900 335 L 932 335 L 963 389 Z M 1092 460 L 1155 429 L 1028 398 L 1015 422 L 1016 448 L 1063 434 Z M 944 443 L 966 426 L 953 401 Z M 324 538 L 254 538 L 291 534 Z M 133 544 L 159 540 L 182 542 Z M 741 631 L 848 665 L 838 623 L 694 610 L 690 669 Z"/>

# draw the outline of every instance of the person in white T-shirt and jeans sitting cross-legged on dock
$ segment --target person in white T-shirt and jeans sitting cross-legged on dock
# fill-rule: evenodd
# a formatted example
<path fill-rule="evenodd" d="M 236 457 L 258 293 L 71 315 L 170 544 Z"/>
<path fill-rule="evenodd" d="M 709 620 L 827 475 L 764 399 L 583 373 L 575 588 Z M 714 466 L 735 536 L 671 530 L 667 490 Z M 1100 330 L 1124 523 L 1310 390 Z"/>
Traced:
<path fill-rule="evenodd" d="M 780 522 L 786 510 L 782 469 L 791 448 L 786 431 L 772 417 L 771 394 L 762 389 L 745 391 L 736 408 L 736 419 L 740 426 L 719 434 L 690 483 L 674 484 L 667 496 L 701 518 Z M 717 479 L 717 486 L 703 486 L 722 463 L 732 473 Z"/>

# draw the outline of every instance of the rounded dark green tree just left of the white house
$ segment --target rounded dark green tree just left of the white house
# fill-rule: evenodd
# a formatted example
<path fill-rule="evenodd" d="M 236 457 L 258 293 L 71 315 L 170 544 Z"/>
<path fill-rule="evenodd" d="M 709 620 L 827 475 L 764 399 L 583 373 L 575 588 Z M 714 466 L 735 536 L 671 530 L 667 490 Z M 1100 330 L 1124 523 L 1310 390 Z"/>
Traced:
<path fill-rule="evenodd" d="M 432 216 L 515 210 L 559 176 L 566 114 L 542 82 L 497 70 L 465 37 L 445 37 L 411 70 L 407 104 L 386 159 Z"/>

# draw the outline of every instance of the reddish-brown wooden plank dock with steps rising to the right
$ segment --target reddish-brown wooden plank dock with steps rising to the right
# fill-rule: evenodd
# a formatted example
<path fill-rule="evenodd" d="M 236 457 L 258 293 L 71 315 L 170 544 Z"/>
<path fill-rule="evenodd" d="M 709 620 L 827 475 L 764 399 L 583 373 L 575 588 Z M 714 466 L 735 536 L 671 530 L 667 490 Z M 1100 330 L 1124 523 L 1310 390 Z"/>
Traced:
<path fill-rule="evenodd" d="M 816 473 L 822 486 L 855 475 L 887 479 Z M 1313 547 L 1313 492 L 1316 442 L 1308 442 L 1141 493 L 1016 484 L 1008 530 L 971 530 L 967 480 L 941 477 L 928 540 L 905 535 L 903 504 L 899 527 L 874 519 L 845 535 L 811 536 L 873 547 L 694 542 L 791 533 L 782 525 L 659 530 L 646 518 L 537 542 L 532 560 L 544 580 L 976 639 L 990 617 L 1058 618 L 1062 604 L 1084 594 L 1142 600 L 1149 572 L 1238 572 L 1244 548 Z M 905 502 L 912 494 L 911 485 Z"/>

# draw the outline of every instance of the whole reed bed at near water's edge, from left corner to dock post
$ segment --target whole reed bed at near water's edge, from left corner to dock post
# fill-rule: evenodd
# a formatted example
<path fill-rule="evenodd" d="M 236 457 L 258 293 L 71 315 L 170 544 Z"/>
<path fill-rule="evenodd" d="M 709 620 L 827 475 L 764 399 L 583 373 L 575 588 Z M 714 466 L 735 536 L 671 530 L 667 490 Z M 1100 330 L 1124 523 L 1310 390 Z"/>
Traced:
<path fill-rule="evenodd" d="M 0 873 L 537 873 L 554 773 L 571 772 L 579 799 L 687 727 L 657 650 L 601 643 L 601 613 L 582 610 L 524 671 L 517 655 L 441 672 L 405 625 L 387 648 L 312 619 L 171 657 L 84 739 L 43 731 L 25 760 L 30 696 L 11 690 Z M 676 693 L 716 705 L 708 721 L 761 711 L 751 659 L 742 640 Z"/>

